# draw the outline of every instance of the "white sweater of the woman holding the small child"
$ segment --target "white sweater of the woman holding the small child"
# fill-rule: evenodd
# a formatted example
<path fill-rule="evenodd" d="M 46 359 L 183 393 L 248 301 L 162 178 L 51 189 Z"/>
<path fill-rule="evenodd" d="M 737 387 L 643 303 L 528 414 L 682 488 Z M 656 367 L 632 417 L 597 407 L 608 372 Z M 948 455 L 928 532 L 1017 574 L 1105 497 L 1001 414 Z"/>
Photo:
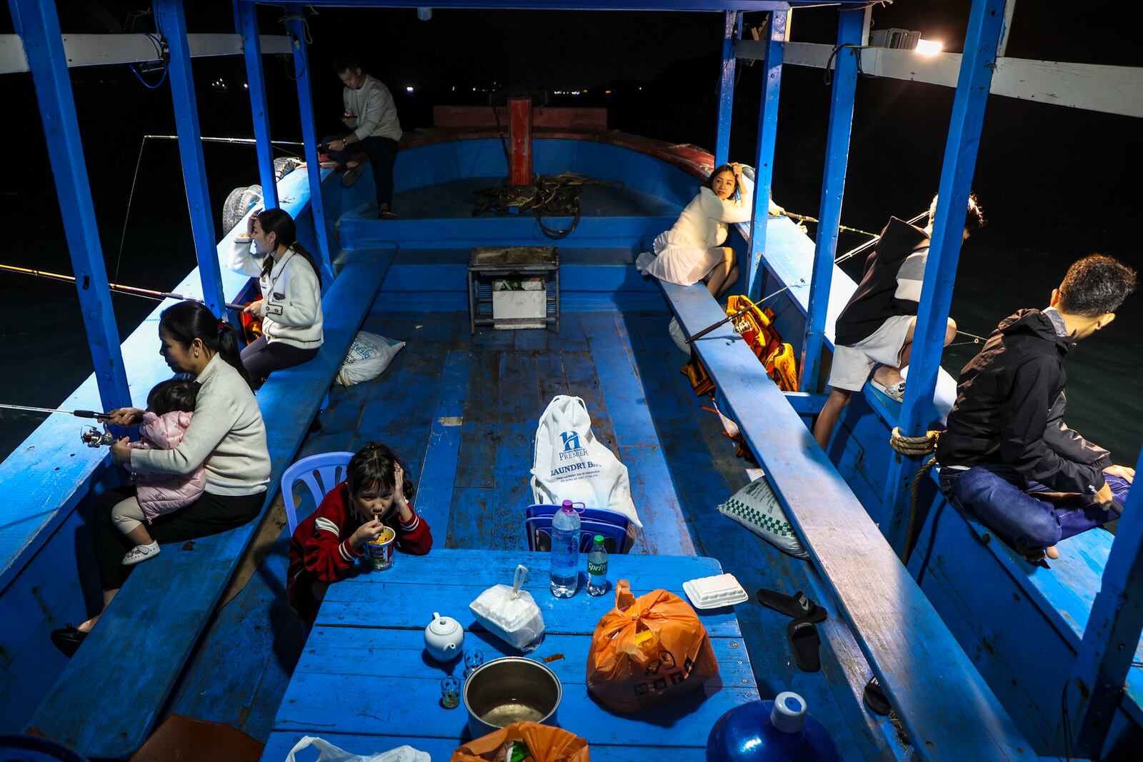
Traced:
<path fill-rule="evenodd" d="M 254 392 L 221 355 L 194 379 L 194 416 L 173 450 L 131 450 L 130 470 L 189 476 L 201 465 L 211 495 L 254 495 L 270 482 L 266 426 Z"/>

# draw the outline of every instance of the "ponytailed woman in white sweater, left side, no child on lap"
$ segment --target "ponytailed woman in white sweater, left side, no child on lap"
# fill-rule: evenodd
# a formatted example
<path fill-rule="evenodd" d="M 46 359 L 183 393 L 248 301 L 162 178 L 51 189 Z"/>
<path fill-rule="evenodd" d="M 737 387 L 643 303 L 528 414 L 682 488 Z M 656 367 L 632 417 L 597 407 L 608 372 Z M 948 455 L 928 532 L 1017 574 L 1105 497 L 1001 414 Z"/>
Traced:
<path fill-rule="evenodd" d="M 321 275 L 297 242 L 294 218 L 281 209 L 250 215 L 235 238 L 230 268 L 258 279 L 262 298 L 246 312 L 262 318 L 262 336 L 242 350 L 255 388 L 270 374 L 307 362 L 321 346 Z M 253 243 L 253 252 L 251 252 Z"/>

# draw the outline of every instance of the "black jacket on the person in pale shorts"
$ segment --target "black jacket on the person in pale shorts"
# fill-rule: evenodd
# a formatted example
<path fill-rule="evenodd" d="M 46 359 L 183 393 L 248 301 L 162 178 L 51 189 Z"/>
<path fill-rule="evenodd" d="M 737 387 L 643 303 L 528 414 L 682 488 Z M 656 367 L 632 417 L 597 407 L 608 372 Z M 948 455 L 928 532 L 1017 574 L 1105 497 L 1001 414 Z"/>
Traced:
<path fill-rule="evenodd" d="M 928 244 L 929 236 L 924 230 L 889 217 L 881 240 L 865 259 L 861 283 L 833 326 L 836 344 L 853 346 L 872 336 L 889 318 L 917 314 L 916 302 L 896 297 L 897 273 L 909 255 L 927 249 Z"/>

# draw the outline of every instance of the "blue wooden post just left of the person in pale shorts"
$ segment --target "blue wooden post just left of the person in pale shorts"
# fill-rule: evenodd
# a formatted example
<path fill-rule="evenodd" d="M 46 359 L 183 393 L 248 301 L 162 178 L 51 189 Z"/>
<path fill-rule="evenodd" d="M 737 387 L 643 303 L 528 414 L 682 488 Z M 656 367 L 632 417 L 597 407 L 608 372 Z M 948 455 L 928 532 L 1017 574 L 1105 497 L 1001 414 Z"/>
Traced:
<path fill-rule="evenodd" d="M 838 46 L 860 46 L 869 9 L 842 10 L 838 21 Z M 833 258 L 841 224 L 841 199 L 846 190 L 849 161 L 849 135 L 854 120 L 854 93 L 857 89 L 857 56 L 861 50 L 840 48 L 834 58 L 833 90 L 830 96 L 830 128 L 825 137 L 825 173 L 822 200 L 817 207 L 817 240 L 814 243 L 814 280 L 809 284 L 809 315 L 802 342 L 801 388 L 821 391 L 818 376 L 825 346 L 825 314 L 830 306 Z"/>

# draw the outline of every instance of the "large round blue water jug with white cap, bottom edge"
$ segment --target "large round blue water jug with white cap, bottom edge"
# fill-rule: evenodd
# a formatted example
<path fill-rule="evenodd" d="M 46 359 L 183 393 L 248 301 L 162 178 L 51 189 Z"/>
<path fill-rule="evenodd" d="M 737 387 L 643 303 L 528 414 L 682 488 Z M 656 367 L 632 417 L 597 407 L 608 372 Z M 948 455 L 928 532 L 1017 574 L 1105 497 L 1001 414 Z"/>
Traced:
<path fill-rule="evenodd" d="M 706 738 L 706 762 L 841 762 L 822 723 L 806 714 L 806 700 L 785 691 L 773 701 L 736 706 Z"/>

